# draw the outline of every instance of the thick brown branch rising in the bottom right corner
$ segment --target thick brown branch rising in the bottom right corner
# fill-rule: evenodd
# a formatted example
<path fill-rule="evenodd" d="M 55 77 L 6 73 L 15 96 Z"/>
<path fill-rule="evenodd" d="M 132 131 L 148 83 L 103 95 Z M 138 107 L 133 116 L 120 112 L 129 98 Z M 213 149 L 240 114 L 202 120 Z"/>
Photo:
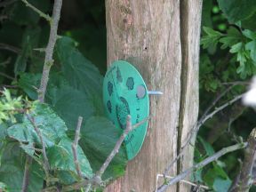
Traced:
<path fill-rule="evenodd" d="M 248 138 L 248 146 L 244 151 L 244 162 L 233 187 L 230 192 L 248 192 L 252 186 L 252 167 L 256 158 L 256 128 L 254 128 Z"/>

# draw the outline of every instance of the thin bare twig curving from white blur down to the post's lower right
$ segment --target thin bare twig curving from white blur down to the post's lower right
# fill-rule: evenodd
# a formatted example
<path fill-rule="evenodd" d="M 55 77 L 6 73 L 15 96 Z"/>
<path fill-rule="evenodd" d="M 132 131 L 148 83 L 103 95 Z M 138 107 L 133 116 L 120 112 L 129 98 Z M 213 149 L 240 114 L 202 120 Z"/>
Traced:
<path fill-rule="evenodd" d="M 170 164 L 168 164 L 168 166 L 166 167 L 166 169 L 164 170 L 164 175 L 167 175 L 168 172 L 170 172 L 172 165 L 175 164 L 181 156 L 183 156 L 184 152 L 186 151 L 186 147 L 188 146 L 188 144 L 190 143 L 190 141 L 192 140 L 192 138 L 196 135 L 196 133 L 198 132 L 199 128 L 210 118 L 212 118 L 212 116 L 214 116 L 215 114 L 217 114 L 218 112 L 220 112 L 221 110 L 223 110 L 224 108 L 227 108 L 229 105 L 231 105 L 232 103 L 236 102 L 237 100 L 240 100 L 242 97 L 244 96 L 243 94 L 237 95 L 233 100 L 229 100 L 228 102 L 226 102 L 225 104 L 223 104 L 222 106 L 220 106 L 219 108 L 215 108 L 214 111 L 212 111 L 212 113 L 208 114 L 207 116 L 204 116 L 204 118 L 201 118 L 196 125 L 192 128 L 192 130 L 189 132 L 188 134 L 188 139 L 186 140 L 186 142 L 183 144 L 183 146 L 180 148 L 180 153 L 178 156 L 175 157 L 175 159 L 172 160 L 172 162 Z"/>

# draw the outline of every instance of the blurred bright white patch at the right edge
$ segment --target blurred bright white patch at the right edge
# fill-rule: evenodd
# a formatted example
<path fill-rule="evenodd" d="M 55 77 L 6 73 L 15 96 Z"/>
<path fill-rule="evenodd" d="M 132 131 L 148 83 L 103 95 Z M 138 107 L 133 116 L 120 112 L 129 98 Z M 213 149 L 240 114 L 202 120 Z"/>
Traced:
<path fill-rule="evenodd" d="M 250 90 L 244 94 L 243 103 L 246 106 L 256 107 L 256 76 L 252 78 Z"/>

